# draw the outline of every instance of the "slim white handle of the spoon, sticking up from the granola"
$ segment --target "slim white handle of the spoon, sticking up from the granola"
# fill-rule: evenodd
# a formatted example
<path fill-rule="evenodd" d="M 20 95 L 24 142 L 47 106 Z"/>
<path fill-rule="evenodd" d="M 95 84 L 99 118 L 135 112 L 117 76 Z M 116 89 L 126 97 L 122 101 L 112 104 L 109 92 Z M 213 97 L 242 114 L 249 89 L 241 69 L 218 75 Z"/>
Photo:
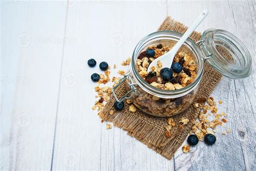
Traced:
<path fill-rule="evenodd" d="M 191 33 L 197 28 L 197 26 L 205 19 L 208 14 L 208 10 L 204 9 L 197 20 L 187 29 L 184 35 L 179 39 L 179 41 L 172 47 L 173 52 L 177 52 L 179 48 L 183 45 L 188 37 L 190 37 Z"/>

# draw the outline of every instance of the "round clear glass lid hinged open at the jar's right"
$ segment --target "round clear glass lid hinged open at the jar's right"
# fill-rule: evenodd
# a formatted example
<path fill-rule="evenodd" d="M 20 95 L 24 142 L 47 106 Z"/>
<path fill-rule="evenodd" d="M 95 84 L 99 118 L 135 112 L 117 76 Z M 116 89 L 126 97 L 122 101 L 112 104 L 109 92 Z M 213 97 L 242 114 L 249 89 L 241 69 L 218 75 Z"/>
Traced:
<path fill-rule="evenodd" d="M 203 32 L 198 43 L 207 63 L 223 76 L 239 79 L 251 74 L 251 55 L 244 44 L 232 33 L 208 29 Z"/>

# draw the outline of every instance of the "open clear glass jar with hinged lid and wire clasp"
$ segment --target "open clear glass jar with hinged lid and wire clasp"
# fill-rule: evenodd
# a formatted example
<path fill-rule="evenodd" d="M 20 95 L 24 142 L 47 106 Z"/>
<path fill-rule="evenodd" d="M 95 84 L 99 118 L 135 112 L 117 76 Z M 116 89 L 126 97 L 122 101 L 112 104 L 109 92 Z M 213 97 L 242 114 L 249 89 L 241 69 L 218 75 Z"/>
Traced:
<path fill-rule="evenodd" d="M 158 31 L 140 40 L 134 49 L 129 72 L 119 81 L 119 84 L 126 81 L 127 93 L 118 99 L 114 90 L 119 84 L 113 88 L 116 101 L 131 99 L 139 110 L 147 114 L 170 117 L 185 111 L 193 103 L 203 76 L 205 61 L 228 78 L 239 79 L 250 75 L 251 55 L 241 41 L 230 32 L 208 29 L 197 43 L 188 38 L 180 48 L 196 61 L 196 79 L 179 90 L 161 90 L 153 87 L 139 75 L 136 66 L 139 54 L 153 45 L 164 44 L 172 47 L 181 36 L 181 33 L 175 31 Z"/>

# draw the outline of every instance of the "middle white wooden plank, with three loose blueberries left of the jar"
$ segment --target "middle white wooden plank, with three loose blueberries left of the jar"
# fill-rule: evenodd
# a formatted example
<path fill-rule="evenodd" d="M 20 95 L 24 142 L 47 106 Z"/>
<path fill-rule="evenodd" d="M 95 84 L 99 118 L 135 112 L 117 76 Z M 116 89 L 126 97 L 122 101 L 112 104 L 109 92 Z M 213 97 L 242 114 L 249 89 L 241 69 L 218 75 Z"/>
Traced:
<path fill-rule="evenodd" d="M 166 5 L 150 2 L 76 2 L 68 9 L 67 37 L 76 44 L 65 44 L 58 118 L 75 120 L 57 123 L 53 169 L 156 170 L 173 169 L 173 162 L 147 148 L 123 130 L 106 130 L 96 112 L 95 83 L 92 73 L 100 61 L 107 61 L 112 76 L 131 56 L 138 41 L 156 31 L 166 17 Z M 95 58 L 97 66 L 87 66 Z M 70 78 L 70 84 L 65 82 Z"/>

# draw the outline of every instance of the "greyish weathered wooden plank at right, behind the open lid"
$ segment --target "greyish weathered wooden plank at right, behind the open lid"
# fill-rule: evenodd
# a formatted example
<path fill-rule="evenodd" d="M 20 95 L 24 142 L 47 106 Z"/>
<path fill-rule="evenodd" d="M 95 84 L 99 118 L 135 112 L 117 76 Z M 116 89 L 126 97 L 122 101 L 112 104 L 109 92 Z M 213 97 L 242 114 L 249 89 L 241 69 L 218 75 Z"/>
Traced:
<path fill-rule="evenodd" d="M 168 4 L 169 15 L 186 25 L 192 24 L 201 9 L 208 8 L 208 16 L 197 30 L 203 32 L 206 29 L 217 28 L 230 31 L 241 39 L 251 52 L 251 56 L 255 56 L 255 11 L 252 1 L 169 1 Z M 184 9 L 186 12 L 179 12 Z M 187 13 L 190 15 L 187 16 Z M 217 142 L 214 146 L 208 147 L 201 142 L 188 154 L 183 154 L 179 148 L 174 155 L 175 169 L 253 170 L 255 77 L 254 72 L 245 79 L 221 80 L 212 96 L 223 100 L 219 111 L 228 113 L 228 123 L 217 129 Z M 232 133 L 221 135 L 228 128 L 232 129 Z"/>

